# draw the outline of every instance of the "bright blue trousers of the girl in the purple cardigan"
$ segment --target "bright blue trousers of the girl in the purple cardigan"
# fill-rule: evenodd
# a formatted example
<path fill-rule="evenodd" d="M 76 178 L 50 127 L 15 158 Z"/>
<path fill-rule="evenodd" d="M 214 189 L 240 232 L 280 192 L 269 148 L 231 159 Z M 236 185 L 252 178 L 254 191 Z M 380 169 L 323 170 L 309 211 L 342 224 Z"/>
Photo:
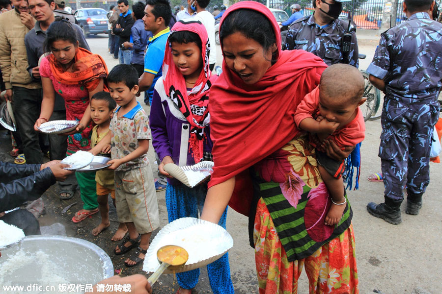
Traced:
<path fill-rule="evenodd" d="M 166 207 L 169 222 L 184 217 L 198 218 L 198 211 L 201 214 L 206 199 L 207 185 L 198 185 L 188 188 L 184 185 L 174 186 L 167 184 Z M 225 228 L 227 208 L 218 223 Z M 214 294 L 234 293 L 232 280 L 230 279 L 230 266 L 228 253 L 219 260 L 207 266 L 210 287 Z M 198 284 L 199 269 L 180 272 L 176 274 L 178 284 L 184 289 L 193 289 Z"/>

